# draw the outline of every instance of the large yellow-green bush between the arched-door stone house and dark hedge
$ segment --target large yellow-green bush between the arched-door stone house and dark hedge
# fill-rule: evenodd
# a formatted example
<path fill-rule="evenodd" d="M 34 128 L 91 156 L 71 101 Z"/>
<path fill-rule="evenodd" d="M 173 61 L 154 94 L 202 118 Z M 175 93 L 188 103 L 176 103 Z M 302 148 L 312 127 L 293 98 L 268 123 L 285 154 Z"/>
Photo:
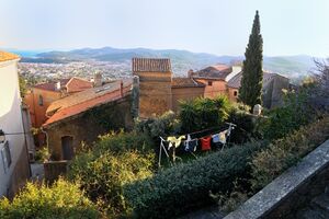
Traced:
<path fill-rule="evenodd" d="M 70 177 L 78 178 L 88 196 L 100 201 L 110 215 L 128 211 L 123 186 L 152 175 L 155 155 L 148 137 L 135 132 L 100 137 L 92 150 L 78 154 L 70 165 Z"/>

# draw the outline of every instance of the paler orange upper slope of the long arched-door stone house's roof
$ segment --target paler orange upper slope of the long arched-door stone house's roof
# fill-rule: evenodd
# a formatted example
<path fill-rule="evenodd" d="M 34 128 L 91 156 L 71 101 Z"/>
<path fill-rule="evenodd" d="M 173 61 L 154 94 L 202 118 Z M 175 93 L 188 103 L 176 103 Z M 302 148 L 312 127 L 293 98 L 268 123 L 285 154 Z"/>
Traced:
<path fill-rule="evenodd" d="M 124 82 L 124 87 L 129 87 L 132 84 L 132 80 L 129 80 L 129 79 L 123 80 L 123 82 Z M 107 83 L 100 88 L 88 89 L 88 90 L 71 94 L 69 96 L 59 99 L 58 101 L 53 102 L 48 106 L 46 115 L 52 116 L 54 113 L 56 113 L 56 111 L 64 110 L 64 108 L 72 106 L 72 105 L 77 105 L 82 102 L 102 96 L 106 93 L 116 91 L 120 89 L 120 83 L 121 83 L 120 81 L 116 81 L 113 83 Z"/>

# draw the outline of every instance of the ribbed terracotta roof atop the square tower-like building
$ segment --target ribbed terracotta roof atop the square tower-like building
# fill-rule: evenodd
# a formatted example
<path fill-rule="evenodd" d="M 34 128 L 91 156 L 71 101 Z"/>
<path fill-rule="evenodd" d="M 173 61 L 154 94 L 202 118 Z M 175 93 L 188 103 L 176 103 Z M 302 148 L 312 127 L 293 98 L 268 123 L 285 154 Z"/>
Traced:
<path fill-rule="evenodd" d="M 133 72 L 171 72 L 169 58 L 133 58 Z"/>

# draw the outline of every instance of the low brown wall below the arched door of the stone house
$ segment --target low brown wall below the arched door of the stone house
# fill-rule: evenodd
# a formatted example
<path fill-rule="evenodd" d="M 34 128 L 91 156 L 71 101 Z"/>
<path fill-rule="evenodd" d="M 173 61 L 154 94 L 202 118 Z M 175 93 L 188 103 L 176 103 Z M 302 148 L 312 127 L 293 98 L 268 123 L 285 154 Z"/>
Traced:
<path fill-rule="evenodd" d="M 68 171 L 68 161 L 47 161 L 44 162 L 45 181 L 54 183 L 60 175 Z"/>

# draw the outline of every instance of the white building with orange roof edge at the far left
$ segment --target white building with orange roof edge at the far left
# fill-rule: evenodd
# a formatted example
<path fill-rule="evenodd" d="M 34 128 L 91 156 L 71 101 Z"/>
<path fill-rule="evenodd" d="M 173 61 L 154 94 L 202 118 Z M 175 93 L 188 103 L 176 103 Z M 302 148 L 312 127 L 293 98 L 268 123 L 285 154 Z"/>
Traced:
<path fill-rule="evenodd" d="M 31 175 L 19 87 L 19 60 L 16 55 L 0 51 L 0 197 L 12 196 Z"/>

